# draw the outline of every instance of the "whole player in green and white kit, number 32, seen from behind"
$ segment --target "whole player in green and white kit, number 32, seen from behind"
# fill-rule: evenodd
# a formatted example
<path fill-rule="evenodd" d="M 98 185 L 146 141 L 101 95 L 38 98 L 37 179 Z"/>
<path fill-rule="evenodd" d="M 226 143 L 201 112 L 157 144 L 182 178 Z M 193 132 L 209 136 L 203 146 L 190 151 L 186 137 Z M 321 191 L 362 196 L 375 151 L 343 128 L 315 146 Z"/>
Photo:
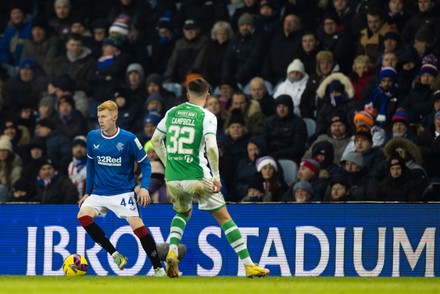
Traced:
<path fill-rule="evenodd" d="M 176 211 L 171 221 L 167 275 L 170 278 L 179 276 L 178 246 L 191 217 L 193 200 L 197 199 L 199 209 L 209 211 L 225 232 L 229 244 L 245 266 L 246 276 L 265 277 L 269 270 L 252 261 L 220 193 L 217 118 L 204 109 L 208 91 L 209 84 L 204 79 L 191 80 L 186 93 L 189 102 L 171 108 L 152 138 L 154 149 L 165 164 L 167 188 Z"/>

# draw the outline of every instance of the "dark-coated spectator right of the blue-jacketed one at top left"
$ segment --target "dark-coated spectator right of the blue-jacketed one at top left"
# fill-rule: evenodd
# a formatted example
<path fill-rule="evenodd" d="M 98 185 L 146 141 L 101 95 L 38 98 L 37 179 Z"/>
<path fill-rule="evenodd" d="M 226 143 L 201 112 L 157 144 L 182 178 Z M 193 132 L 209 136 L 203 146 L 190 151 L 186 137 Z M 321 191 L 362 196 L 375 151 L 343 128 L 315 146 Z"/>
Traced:
<path fill-rule="evenodd" d="M 31 37 L 24 40 L 21 59 L 33 58 L 46 76 L 50 72 L 49 64 L 58 55 L 59 40 L 53 35 L 43 19 L 35 19 L 32 23 Z"/>

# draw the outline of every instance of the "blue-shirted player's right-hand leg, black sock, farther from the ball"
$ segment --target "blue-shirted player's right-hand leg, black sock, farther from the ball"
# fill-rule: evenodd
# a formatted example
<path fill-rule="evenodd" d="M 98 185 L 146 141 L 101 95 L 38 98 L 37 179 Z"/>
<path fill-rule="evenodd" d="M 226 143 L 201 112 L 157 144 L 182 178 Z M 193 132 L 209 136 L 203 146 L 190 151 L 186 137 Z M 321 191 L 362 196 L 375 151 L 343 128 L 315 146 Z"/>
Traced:
<path fill-rule="evenodd" d="M 162 268 L 159 254 L 157 253 L 156 242 L 154 241 L 153 236 L 151 236 L 150 232 L 148 232 L 142 219 L 138 216 L 130 216 L 129 218 L 127 218 L 127 221 L 130 224 L 133 233 L 141 241 L 142 248 L 144 248 L 145 253 L 147 253 L 148 258 L 153 264 L 155 275 L 165 276 L 165 271 Z"/>

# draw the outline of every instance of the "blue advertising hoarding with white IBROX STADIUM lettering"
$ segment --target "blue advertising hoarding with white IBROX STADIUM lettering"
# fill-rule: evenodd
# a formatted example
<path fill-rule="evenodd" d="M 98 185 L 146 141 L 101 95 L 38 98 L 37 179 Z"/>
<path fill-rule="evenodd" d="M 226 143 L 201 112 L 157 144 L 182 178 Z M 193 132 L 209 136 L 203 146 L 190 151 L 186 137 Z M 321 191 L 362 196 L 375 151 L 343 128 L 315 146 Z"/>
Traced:
<path fill-rule="evenodd" d="M 188 276 L 244 276 L 221 228 L 194 207 L 179 265 Z M 440 276 L 440 204 L 229 204 L 254 262 L 271 276 Z M 84 255 L 88 275 L 150 275 L 152 266 L 125 220 L 96 222 L 128 257 L 120 271 L 78 224 L 75 205 L 0 205 L 0 275 L 62 275 L 62 261 Z M 142 209 L 157 243 L 166 242 L 169 204 Z"/>

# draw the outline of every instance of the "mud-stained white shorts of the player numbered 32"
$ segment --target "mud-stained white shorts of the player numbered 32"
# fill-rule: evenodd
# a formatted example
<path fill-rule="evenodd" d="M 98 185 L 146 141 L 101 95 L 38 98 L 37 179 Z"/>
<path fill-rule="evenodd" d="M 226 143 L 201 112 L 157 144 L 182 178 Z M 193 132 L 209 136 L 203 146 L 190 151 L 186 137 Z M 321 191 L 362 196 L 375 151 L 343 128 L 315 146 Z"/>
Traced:
<path fill-rule="evenodd" d="M 211 193 L 212 180 L 185 180 L 167 182 L 173 200 L 173 209 L 185 213 L 192 209 L 193 201 L 199 202 L 199 210 L 215 211 L 225 206 L 222 193 Z"/>

